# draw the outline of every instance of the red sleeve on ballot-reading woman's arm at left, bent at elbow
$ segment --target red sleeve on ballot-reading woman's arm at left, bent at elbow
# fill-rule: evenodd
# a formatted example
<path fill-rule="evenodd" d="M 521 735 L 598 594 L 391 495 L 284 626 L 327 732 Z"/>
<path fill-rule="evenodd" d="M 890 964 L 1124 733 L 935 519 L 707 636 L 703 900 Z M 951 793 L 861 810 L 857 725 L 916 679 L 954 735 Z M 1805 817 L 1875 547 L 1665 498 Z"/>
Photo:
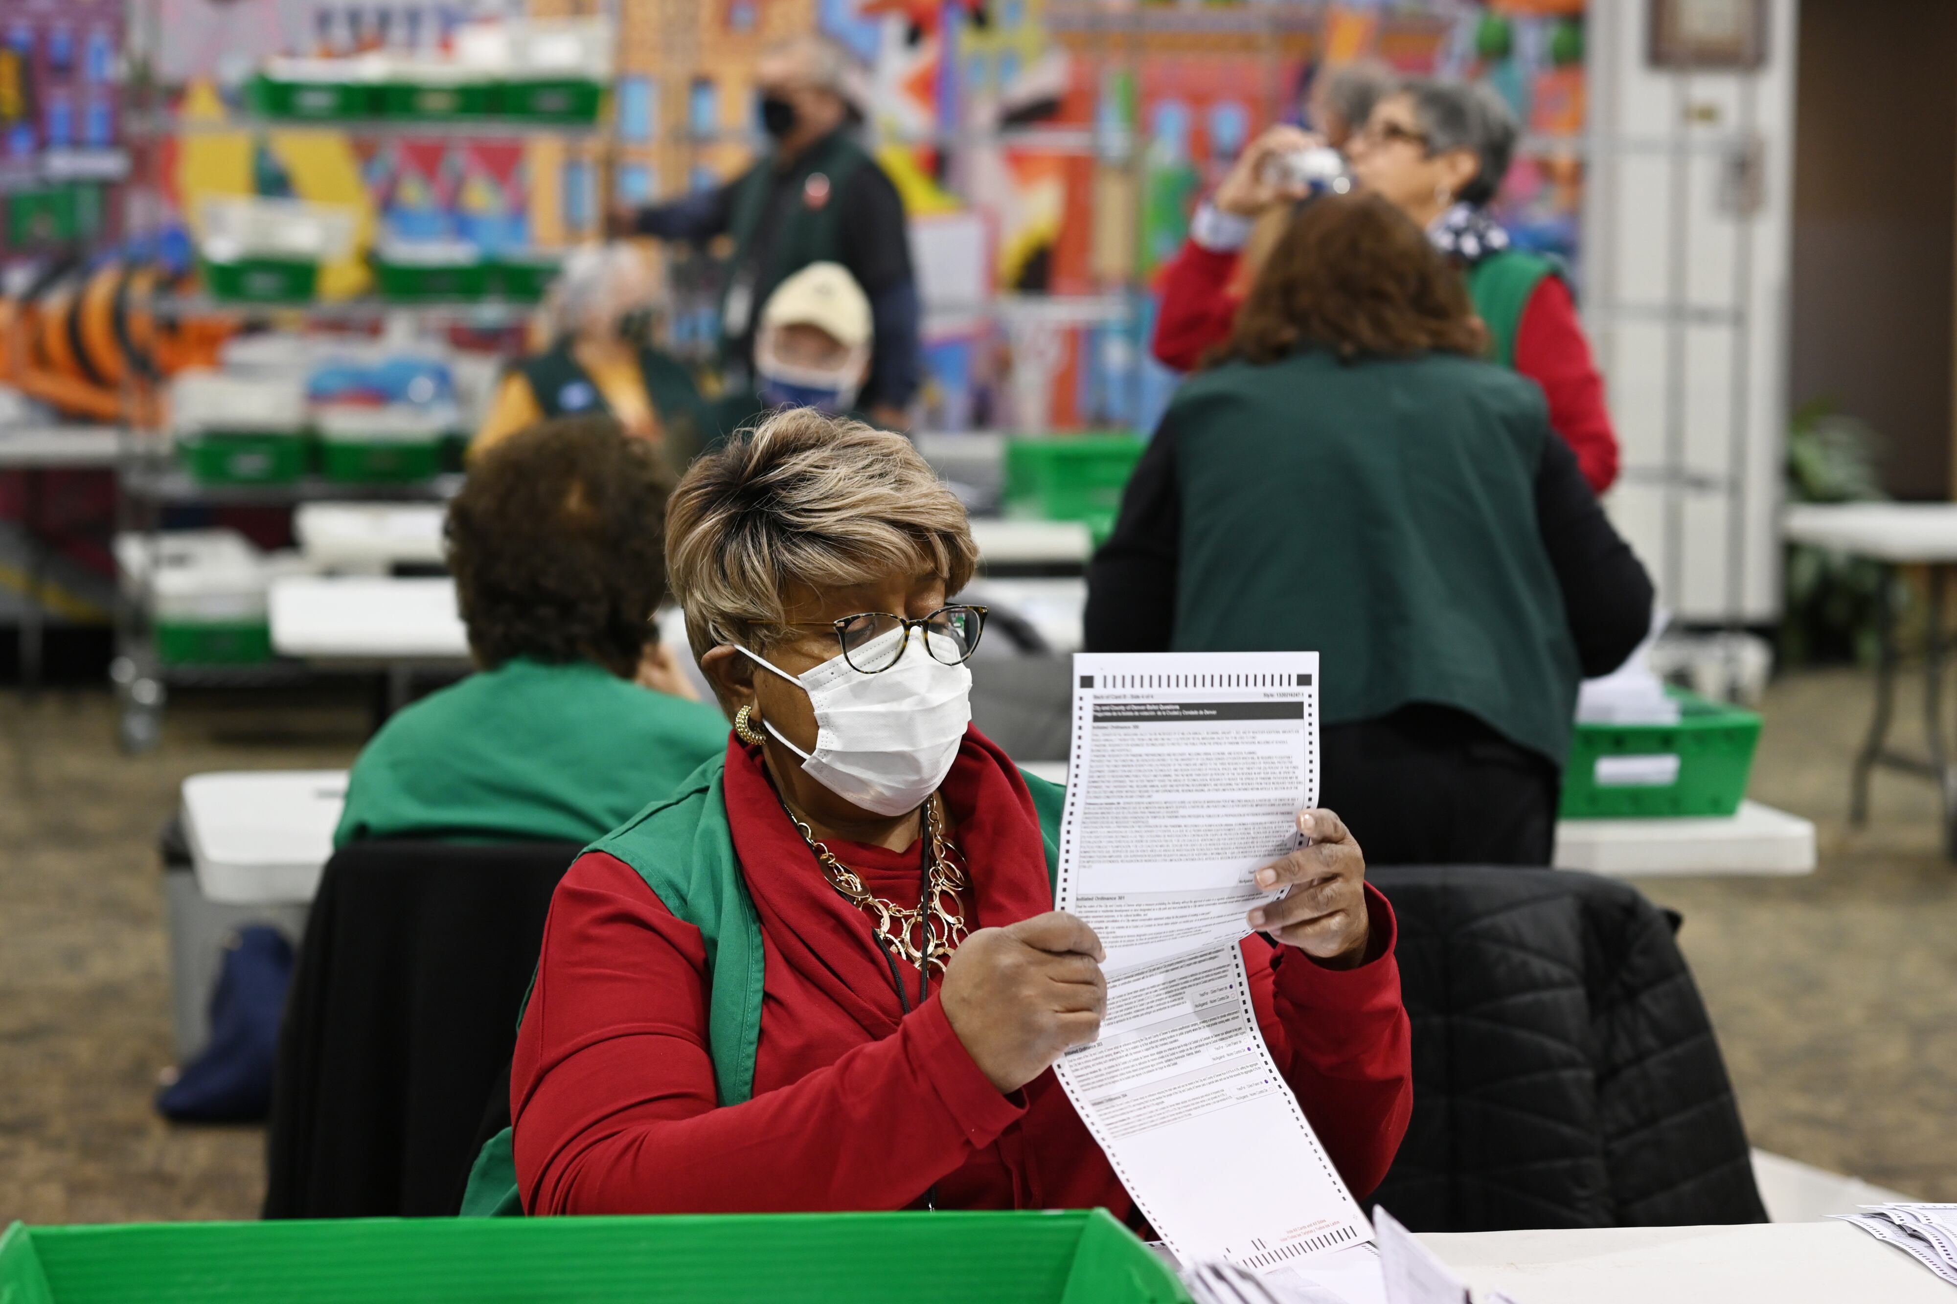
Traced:
<path fill-rule="evenodd" d="M 601 852 L 550 901 L 511 1065 L 530 1214 L 902 1208 L 1020 1114 L 937 997 L 894 1036 L 720 1108 L 699 930 Z"/>

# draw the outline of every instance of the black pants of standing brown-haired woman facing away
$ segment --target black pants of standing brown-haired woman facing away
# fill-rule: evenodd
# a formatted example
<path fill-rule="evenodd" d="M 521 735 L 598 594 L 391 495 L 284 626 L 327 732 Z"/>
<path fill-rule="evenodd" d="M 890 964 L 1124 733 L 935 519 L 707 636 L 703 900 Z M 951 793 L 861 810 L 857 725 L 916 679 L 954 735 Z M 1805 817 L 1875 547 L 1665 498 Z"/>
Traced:
<path fill-rule="evenodd" d="M 1319 805 L 1368 865 L 1548 865 L 1562 775 L 1472 715 L 1413 705 L 1327 724 Z"/>

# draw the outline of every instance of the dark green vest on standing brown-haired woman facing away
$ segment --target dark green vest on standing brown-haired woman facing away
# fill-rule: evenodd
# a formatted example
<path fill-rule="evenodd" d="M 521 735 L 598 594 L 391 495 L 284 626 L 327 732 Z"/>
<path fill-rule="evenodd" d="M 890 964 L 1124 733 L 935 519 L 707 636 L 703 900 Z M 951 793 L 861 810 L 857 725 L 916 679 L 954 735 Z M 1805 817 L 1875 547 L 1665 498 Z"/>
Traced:
<path fill-rule="evenodd" d="M 1466 711 L 1562 768 L 1577 654 L 1536 531 L 1542 392 L 1456 354 L 1192 376 L 1174 648 L 1315 650 L 1319 719 Z"/>

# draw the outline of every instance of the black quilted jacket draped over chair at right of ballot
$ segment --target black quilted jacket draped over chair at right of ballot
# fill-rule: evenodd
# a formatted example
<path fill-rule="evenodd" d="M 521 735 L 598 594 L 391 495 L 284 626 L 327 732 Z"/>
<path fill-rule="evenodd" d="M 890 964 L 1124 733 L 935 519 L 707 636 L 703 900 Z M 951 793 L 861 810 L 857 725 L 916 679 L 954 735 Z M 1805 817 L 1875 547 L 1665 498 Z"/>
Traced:
<path fill-rule="evenodd" d="M 1767 1220 L 1677 916 L 1566 869 L 1368 879 L 1413 1016 L 1413 1122 L 1374 1202 L 1415 1232 Z"/>

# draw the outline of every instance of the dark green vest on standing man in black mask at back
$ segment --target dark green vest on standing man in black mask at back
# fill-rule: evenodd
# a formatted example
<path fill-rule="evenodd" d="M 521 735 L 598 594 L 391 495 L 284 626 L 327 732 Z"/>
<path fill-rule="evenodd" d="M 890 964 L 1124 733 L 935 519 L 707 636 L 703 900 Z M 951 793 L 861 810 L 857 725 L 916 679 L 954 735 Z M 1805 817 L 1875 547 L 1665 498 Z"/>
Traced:
<path fill-rule="evenodd" d="M 728 292 L 720 296 L 720 347 L 724 352 L 732 354 L 753 333 L 753 325 L 761 319 L 761 305 L 767 303 L 775 286 L 810 262 L 842 262 L 842 194 L 849 178 L 863 166 L 877 166 L 877 163 L 843 131 L 832 131 L 810 145 L 789 168 L 789 178 L 783 184 L 795 194 L 783 200 L 787 211 L 775 223 L 767 249 L 759 251 L 753 243 L 767 211 L 767 198 L 777 184 L 775 161 L 771 157 L 759 159 L 734 182 L 728 210 L 734 256 L 728 262 Z M 824 176 L 826 188 L 818 182 L 812 190 L 810 178 L 818 172 Z M 820 204 L 812 202 L 816 192 L 824 196 Z M 751 276 L 748 319 L 740 331 L 728 333 L 724 325 L 728 294 L 744 276 Z"/>

